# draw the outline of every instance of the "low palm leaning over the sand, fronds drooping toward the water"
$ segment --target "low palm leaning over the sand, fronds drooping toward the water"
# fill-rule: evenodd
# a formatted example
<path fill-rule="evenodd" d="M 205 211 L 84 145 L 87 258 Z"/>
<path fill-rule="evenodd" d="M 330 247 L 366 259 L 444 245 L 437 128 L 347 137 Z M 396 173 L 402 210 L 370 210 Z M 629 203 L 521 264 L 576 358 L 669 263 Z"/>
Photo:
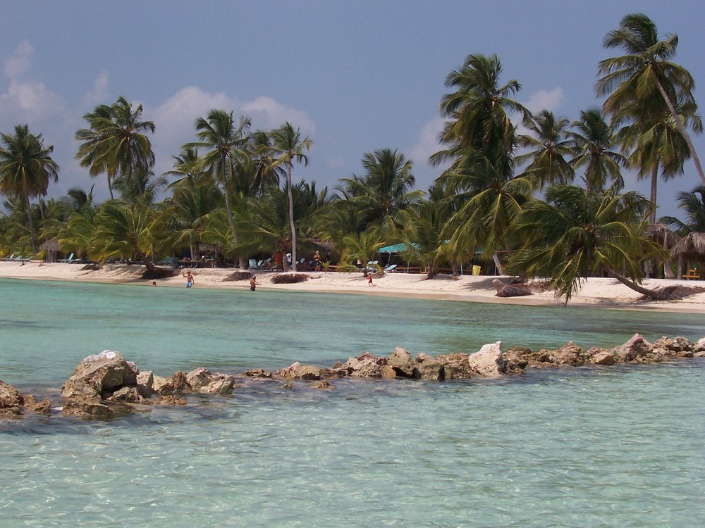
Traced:
<path fill-rule="evenodd" d="M 649 208 L 651 203 L 634 191 L 620 194 L 611 187 L 597 194 L 554 184 L 546 190 L 546 201 L 532 199 L 517 215 L 513 230 L 523 245 L 508 270 L 550 278 L 566 303 L 585 277 L 603 271 L 639 293 L 656 296 L 639 286 L 642 260 L 663 256 L 663 249 L 642 236 Z"/>

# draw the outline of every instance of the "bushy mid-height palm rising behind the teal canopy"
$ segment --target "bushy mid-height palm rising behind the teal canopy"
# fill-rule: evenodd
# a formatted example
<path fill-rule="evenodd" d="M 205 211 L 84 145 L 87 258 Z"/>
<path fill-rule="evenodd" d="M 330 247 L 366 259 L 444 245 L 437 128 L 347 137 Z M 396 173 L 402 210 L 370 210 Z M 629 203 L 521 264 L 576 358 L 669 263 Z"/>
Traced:
<path fill-rule="evenodd" d="M 381 149 L 362 156 L 364 176 L 343 178 L 343 196 L 360 206 L 367 225 L 376 223 L 383 237 L 393 239 L 408 223 L 410 204 L 423 196 L 413 190 L 412 161 L 396 150 Z"/>

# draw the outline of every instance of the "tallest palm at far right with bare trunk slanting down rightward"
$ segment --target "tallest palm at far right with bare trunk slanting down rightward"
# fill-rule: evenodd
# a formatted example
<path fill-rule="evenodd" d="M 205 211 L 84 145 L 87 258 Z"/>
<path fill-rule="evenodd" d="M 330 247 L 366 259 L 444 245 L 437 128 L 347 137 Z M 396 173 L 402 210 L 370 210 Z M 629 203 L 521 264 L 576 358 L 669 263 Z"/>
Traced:
<path fill-rule="evenodd" d="M 679 115 L 678 106 L 694 105 L 694 80 L 689 71 L 670 61 L 678 47 L 678 35 L 667 34 L 666 40 L 658 39 L 656 24 L 642 13 L 626 15 L 620 27 L 606 34 L 603 45 L 620 48 L 627 54 L 607 58 L 600 62 L 597 81 L 598 94 L 610 94 L 603 103 L 606 112 L 620 116 L 633 109 L 634 103 L 649 106 L 660 113 L 655 94 L 661 96 L 675 125 L 688 145 L 700 180 L 705 184 L 705 174 L 695 151 L 687 126 L 687 115 Z"/>

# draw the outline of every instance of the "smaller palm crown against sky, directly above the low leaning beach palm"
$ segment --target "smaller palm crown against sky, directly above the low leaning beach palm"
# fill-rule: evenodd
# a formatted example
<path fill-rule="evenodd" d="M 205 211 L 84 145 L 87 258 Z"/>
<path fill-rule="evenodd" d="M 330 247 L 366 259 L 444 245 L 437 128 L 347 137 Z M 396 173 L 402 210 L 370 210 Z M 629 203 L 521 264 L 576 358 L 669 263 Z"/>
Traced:
<path fill-rule="evenodd" d="M 599 193 L 608 184 L 624 187 L 621 168 L 626 158 L 616 151 L 618 137 L 614 126 L 607 122 L 599 108 L 580 112 L 580 120 L 572 122 L 575 130 L 568 132 L 575 149 L 573 168 L 582 168 L 585 189 Z"/>

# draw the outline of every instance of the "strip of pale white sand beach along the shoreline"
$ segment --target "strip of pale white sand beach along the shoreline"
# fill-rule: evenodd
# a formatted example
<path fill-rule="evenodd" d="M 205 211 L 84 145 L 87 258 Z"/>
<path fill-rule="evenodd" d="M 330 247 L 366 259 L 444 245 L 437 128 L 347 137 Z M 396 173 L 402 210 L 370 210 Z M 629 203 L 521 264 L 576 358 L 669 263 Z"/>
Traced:
<path fill-rule="evenodd" d="M 16 279 L 71 280 L 86 282 L 126 282 L 152 287 L 151 280 L 142 280 L 145 272 L 141 265 L 108 264 L 100 270 L 86 271 L 81 264 L 27 262 L 24 265 L 14 262 L 0 262 L 1 277 Z M 185 273 L 186 270 L 179 270 Z M 231 275 L 231 269 L 191 270 L 196 288 L 249 289 L 247 281 L 223 282 Z M 410 298 L 434 298 L 446 301 L 474 301 L 522 305 L 558 305 L 563 301 L 552 292 L 532 296 L 500 298 L 492 284 L 496 277 L 463 275 L 453 279 L 439 275 L 427 279 L 425 275 L 388 273 L 384 277 L 373 278 L 374 286 L 367 284 L 362 273 L 307 272 L 309 279 L 298 284 L 272 284 L 273 272 L 257 272 L 258 289 L 288 289 L 297 291 L 320 291 L 329 293 L 367 294 Z M 501 277 L 500 277 L 501 278 Z M 704 281 L 677 281 L 667 279 L 646 279 L 644 287 L 655 288 L 668 284 L 685 284 L 705 287 Z M 178 275 L 169 279 L 158 279 L 158 287 L 185 287 L 185 279 Z M 682 301 L 653 302 L 639 301 L 636 291 L 625 287 L 615 279 L 590 278 L 583 282 L 580 290 L 570 299 L 570 306 L 594 306 L 598 308 L 657 309 L 705 313 L 705 293 L 697 294 Z"/>

